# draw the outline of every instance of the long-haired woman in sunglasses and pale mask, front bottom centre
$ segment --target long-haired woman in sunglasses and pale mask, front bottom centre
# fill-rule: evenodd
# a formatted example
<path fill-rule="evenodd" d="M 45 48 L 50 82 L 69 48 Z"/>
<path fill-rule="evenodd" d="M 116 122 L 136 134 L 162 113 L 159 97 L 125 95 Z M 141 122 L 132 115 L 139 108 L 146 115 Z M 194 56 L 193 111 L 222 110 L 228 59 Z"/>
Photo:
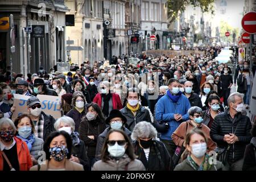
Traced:
<path fill-rule="evenodd" d="M 133 144 L 122 130 L 109 131 L 101 154 L 93 171 L 145 171 L 143 163 L 135 157 Z"/>

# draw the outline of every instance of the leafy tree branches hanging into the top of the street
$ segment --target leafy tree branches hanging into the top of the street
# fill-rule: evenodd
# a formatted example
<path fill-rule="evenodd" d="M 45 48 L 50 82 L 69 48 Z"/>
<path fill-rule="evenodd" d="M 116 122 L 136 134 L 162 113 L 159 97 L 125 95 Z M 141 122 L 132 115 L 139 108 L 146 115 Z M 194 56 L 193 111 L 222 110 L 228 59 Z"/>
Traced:
<path fill-rule="evenodd" d="M 188 5 L 200 7 L 203 13 L 213 14 L 213 2 L 214 0 L 167 0 L 169 23 L 174 22 L 179 13 L 183 12 Z"/>

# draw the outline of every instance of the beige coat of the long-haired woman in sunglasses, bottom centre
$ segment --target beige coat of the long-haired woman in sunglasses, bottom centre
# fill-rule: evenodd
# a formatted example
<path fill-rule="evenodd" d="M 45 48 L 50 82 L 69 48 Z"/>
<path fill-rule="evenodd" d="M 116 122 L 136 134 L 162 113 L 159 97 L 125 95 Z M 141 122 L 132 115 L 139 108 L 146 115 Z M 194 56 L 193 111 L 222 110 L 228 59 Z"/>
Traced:
<path fill-rule="evenodd" d="M 128 164 L 128 166 L 127 166 Z M 92 171 L 125 171 L 125 166 L 127 166 L 127 171 L 145 171 L 141 160 L 131 160 L 127 155 L 124 155 L 123 158 L 117 160 L 110 159 L 108 162 L 102 162 L 98 160 L 94 163 Z"/>

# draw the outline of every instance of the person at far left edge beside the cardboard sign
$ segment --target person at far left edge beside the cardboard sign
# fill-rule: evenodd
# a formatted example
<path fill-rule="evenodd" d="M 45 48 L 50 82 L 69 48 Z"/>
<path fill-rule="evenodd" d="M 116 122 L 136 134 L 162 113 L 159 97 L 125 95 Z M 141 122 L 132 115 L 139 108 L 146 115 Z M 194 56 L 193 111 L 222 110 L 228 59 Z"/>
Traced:
<path fill-rule="evenodd" d="M 11 95 L 11 88 L 6 84 L 2 85 L 2 101 L 0 102 L 0 111 L 3 113 L 4 118 L 11 118 L 13 112 L 15 111 L 15 106 L 13 106 L 13 99 Z"/>

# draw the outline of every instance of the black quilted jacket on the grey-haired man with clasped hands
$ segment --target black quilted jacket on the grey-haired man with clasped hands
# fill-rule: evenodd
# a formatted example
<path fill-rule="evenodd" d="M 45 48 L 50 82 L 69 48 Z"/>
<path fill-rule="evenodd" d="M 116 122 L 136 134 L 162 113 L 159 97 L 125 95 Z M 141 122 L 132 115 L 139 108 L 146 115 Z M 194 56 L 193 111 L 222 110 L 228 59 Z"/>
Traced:
<path fill-rule="evenodd" d="M 235 115 L 234 123 L 229 118 L 229 109 L 224 113 L 216 115 L 210 129 L 210 138 L 217 143 L 218 147 L 227 147 L 224 142 L 224 135 L 234 133 L 238 142 L 231 144 L 229 149 L 228 162 L 236 162 L 243 158 L 246 144 L 251 140 L 251 122 L 249 117 L 241 113 Z"/>

